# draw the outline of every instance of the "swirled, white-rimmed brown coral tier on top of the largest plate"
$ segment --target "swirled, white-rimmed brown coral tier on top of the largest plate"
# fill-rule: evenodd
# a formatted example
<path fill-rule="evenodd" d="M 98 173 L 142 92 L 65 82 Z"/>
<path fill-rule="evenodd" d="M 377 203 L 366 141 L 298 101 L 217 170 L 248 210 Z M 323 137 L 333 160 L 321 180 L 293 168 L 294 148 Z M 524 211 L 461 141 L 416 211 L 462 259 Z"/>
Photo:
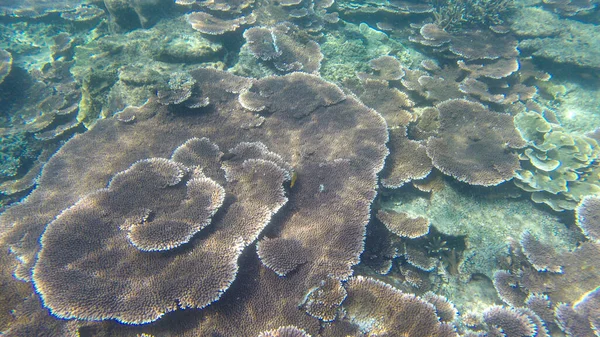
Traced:
<path fill-rule="evenodd" d="M 202 141 L 189 140 L 173 157 Z M 221 296 L 235 278 L 242 249 L 287 201 L 281 185 L 289 174 L 272 161 L 238 158 L 223 164 L 223 188 L 194 170 L 214 166 L 206 159 L 220 157 L 196 157 L 204 160 L 193 166 L 163 158 L 138 161 L 48 225 L 33 281 L 54 315 L 140 324 L 178 307 L 205 307 Z M 216 230 L 188 244 L 211 223 L 225 194 L 236 201 L 212 221 Z M 223 240 L 232 233 L 233 242 Z M 178 254 L 174 248 L 182 245 L 189 251 Z M 154 253 L 162 251 L 171 254 Z M 198 273 L 188 278 L 186 270 Z"/>

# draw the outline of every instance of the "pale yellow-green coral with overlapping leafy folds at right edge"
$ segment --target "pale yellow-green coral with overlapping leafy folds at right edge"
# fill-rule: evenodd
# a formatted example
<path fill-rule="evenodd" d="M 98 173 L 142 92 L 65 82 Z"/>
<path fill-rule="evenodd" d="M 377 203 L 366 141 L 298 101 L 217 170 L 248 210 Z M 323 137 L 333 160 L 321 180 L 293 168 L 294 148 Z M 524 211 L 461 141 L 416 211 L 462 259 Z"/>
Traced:
<path fill-rule="evenodd" d="M 600 147 L 596 140 L 566 132 L 535 112 L 515 116 L 515 126 L 528 147 L 520 154 L 515 184 L 531 199 L 555 211 L 574 209 L 579 201 L 600 192 Z"/>

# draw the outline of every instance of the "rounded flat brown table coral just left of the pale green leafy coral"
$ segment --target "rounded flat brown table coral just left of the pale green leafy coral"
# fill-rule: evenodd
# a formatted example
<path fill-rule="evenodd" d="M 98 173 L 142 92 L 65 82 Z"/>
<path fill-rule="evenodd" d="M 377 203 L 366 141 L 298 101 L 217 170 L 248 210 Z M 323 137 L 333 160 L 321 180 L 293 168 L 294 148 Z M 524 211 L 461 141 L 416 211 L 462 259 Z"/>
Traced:
<path fill-rule="evenodd" d="M 433 165 L 445 174 L 472 184 L 491 186 L 512 179 L 519 169 L 511 148 L 523 147 L 508 114 L 491 112 L 464 99 L 437 105 L 440 129 L 427 141 Z"/>

